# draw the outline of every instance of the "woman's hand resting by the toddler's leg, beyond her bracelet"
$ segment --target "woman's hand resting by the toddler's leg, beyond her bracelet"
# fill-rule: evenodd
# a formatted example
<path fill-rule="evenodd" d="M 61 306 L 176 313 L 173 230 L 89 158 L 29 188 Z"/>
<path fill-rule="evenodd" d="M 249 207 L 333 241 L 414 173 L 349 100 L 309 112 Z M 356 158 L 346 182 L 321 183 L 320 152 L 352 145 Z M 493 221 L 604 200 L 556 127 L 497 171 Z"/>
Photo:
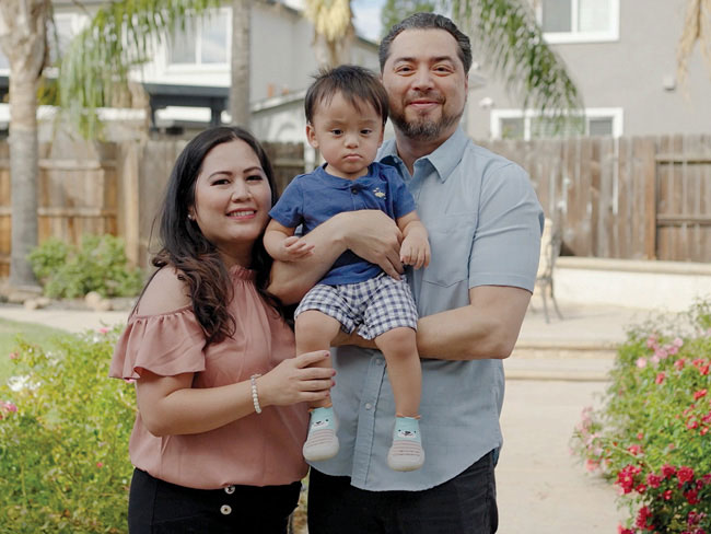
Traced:
<path fill-rule="evenodd" d="M 257 379 L 259 404 L 285 406 L 296 403 L 323 400 L 336 384 L 336 371 L 330 367 L 312 367 L 330 359 L 327 350 L 304 352 L 282 361 L 264 376 Z"/>

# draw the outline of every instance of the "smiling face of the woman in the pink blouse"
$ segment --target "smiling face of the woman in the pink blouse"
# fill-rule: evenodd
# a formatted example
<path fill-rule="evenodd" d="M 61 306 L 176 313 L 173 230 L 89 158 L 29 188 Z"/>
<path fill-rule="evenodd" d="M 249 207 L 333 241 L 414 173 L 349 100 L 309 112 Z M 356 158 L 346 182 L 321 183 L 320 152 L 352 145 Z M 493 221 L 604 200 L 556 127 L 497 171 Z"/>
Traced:
<path fill-rule="evenodd" d="M 235 139 L 208 152 L 189 213 L 228 267 L 249 266 L 270 209 L 269 181 L 252 147 Z"/>

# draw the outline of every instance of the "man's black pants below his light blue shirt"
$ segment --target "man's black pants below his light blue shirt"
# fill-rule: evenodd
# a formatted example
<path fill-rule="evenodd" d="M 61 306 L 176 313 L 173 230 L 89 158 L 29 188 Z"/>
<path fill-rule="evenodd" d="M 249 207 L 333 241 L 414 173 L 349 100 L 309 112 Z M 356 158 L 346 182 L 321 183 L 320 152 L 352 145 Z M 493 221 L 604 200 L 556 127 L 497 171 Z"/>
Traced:
<path fill-rule="evenodd" d="M 422 491 L 365 491 L 350 477 L 308 479 L 310 534 L 492 534 L 499 526 L 493 452 Z"/>

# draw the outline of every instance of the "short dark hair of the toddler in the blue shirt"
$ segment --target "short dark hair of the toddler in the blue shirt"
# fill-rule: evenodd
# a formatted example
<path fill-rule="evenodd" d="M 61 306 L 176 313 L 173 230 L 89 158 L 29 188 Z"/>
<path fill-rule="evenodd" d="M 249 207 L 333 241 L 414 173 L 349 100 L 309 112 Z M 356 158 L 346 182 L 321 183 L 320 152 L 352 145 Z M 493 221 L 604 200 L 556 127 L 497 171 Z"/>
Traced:
<path fill-rule="evenodd" d="M 383 125 L 387 121 L 388 104 L 385 88 L 372 71 L 356 65 L 322 69 L 314 77 L 314 83 L 306 91 L 304 98 L 306 120 L 313 124 L 318 106 L 328 104 L 337 93 L 342 94 L 359 112 L 363 103 L 371 104 L 383 119 Z"/>

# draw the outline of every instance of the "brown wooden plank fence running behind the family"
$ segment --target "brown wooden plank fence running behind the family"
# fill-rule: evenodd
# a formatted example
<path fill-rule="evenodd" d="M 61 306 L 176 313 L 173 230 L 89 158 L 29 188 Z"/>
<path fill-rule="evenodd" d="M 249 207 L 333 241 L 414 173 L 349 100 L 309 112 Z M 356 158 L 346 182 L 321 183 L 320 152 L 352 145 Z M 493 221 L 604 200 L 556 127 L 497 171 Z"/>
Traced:
<path fill-rule="evenodd" d="M 483 142 L 528 171 L 564 253 L 711 262 L 711 136 Z M 148 264 L 162 190 L 185 141 L 40 147 L 39 240 L 123 236 Z M 267 143 L 280 189 L 303 172 L 302 144 Z M 0 276 L 10 258 L 10 172 L 0 142 Z"/>

